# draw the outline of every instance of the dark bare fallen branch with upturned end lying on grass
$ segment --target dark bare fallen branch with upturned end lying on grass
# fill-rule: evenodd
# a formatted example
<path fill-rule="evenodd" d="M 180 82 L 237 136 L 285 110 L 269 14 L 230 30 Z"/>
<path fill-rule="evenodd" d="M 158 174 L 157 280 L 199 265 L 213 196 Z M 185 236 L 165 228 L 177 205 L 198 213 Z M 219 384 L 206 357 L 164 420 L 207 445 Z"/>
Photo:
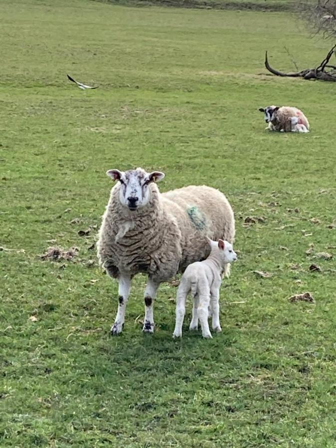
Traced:
<path fill-rule="evenodd" d="M 301 72 L 294 73 L 283 73 L 278 70 L 273 69 L 269 63 L 267 58 L 267 51 L 265 53 L 265 67 L 267 70 L 273 75 L 276 76 L 287 76 L 291 78 L 303 78 L 303 79 L 318 79 L 322 81 L 334 81 L 336 82 L 336 67 L 333 65 L 328 65 L 330 58 L 333 56 L 335 52 L 336 45 L 329 51 L 326 58 L 321 62 L 321 64 L 316 68 L 301 70 Z M 330 71 L 326 71 L 326 69 L 332 69 Z"/>

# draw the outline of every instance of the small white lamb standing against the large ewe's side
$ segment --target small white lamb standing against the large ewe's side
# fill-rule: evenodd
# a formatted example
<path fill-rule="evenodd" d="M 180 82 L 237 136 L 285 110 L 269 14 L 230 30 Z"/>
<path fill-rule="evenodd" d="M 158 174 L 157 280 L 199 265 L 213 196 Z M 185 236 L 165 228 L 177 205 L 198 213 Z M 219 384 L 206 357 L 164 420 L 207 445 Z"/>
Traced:
<path fill-rule="evenodd" d="M 204 261 L 190 264 L 182 275 L 176 296 L 176 323 L 173 337 L 182 337 L 182 325 L 186 312 L 186 298 L 191 292 L 194 297 L 193 317 L 190 330 L 197 330 L 201 322 L 203 337 L 212 337 L 208 324 L 208 308 L 212 311 L 212 326 L 221 332 L 220 324 L 220 287 L 222 272 L 228 263 L 236 261 L 237 255 L 228 241 L 213 241 L 208 238 L 211 252 Z"/>

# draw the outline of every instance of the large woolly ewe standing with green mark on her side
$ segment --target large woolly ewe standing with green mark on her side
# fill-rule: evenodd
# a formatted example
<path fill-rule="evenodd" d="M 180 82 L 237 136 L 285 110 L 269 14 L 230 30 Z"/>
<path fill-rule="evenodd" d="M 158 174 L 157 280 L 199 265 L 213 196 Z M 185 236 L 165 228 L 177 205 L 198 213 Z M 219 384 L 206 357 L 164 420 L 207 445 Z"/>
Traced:
<path fill-rule="evenodd" d="M 148 274 L 143 331 L 153 333 L 159 284 L 207 258 L 206 236 L 233 243 L 233 212 L 224 194 L 211 187 L 191 185 L 160 194 L 155 182 L 164 174 L 159 171 L 113 169 L 107 174 L 118 182 L 103 216 L 98 258 L 118 279 L 118 311 L 111 333 L 122 331 L 131 278 L 139 272 Z"/>

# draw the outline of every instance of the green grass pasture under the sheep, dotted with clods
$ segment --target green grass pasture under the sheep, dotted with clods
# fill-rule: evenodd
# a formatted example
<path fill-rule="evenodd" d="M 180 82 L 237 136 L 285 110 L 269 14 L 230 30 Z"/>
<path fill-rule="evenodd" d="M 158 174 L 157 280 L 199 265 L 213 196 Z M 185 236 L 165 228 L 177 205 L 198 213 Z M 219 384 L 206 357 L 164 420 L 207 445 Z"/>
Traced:
<path fill-rule="evenodd" d="M 301 69 L 329 43 L 288 13 L 85 0 L 2 1 L 1 24 L 0 446 L 335 447 L 336 85 L 263 68 L 265 49 Z M 300 107 L 311 133 L 265 132 L 269 104 Z M 212 340 L 187 331 L 190 305 L 172 339 L 174 284 L 142 334 L 142 276 L 109 336 L 117 285 L 91 246 L 106 170 L 139 165 L 166 173 L 161 191 L 208 184 L 235 211 Z M 54 245 L 78 255 L 42 261 Z M 306 291 L 315 303 L 289 302 Z"/>

